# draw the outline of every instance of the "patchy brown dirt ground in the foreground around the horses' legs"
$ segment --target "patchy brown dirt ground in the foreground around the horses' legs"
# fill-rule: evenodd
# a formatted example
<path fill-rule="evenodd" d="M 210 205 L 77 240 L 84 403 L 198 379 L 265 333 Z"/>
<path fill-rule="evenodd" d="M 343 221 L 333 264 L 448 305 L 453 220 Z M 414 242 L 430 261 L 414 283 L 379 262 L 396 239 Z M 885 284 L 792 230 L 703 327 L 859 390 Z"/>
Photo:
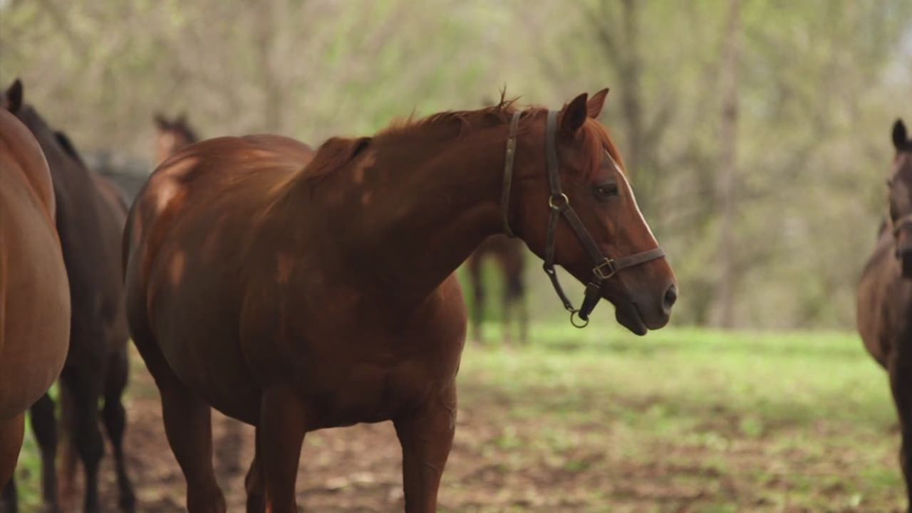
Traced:
<path fill-rule="evenodd" d="M 721 400 L 708 409 L 679 407 L 668 397 L 636 396 L 632 386 L 600 381 L 588 388 L 496 385 L 488 378 L 503 381 L 504 373 L 530 371 L 474 358 L 460 376 L 441 512 L 900 513 L 892 422 L 853 430 L 833 419 L 798 417 L 755 427 L 749 410 L 728 409 Z M 503 359 L 513 362 L 517 355 Z M 586 374 L 587 359 L 574 359 L 578 364 L 560 367 L 560 374 Z M 529 369 L 543 361 L 528 357 Z M 157 390 L 138 357 L 134 364 L 126 447 L 138 510 L 181 512 L 185 485 L 164 436 Z M 629 367 L 617 360 L 615 373 Z M 539 374 L 529 383 L 549 379 Z M 213 419 L 228 510 L 243 512 L 253 429 L 217 413 Z M 107 511 L 117 511 L 109 457 L 101 481 Z M 399 443 L 391 424 L 308 434 L 297 494 L 305 511 L 402 511 Z"/>

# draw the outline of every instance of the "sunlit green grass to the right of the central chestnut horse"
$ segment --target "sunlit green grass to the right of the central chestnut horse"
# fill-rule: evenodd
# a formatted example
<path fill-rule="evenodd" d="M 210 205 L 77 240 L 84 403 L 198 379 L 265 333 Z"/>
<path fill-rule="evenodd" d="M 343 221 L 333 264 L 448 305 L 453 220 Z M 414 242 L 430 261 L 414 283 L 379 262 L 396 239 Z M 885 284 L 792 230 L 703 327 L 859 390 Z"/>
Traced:
<path fill-rule="evenodd" d="M 489 339 L 496 331 L 488 327 Z M 670 467 L 657 478 L 738 490 L 710 492 L 687 511 L 898 511 L 902 504 L 886 373 L 855 333 L 679 328 L 640 338 L 548 323 L 534 326 L 532 338 L 523 348 L 470 344 L 461 365 L 463 404 L 493 395 L 509 405 L 500 421 L 504 446 L 544 444 L 559 453 L 586 445 L 562 436 L 601 436 L 593 446 L 617 451 L 608 458 L 616 466 Z M 517 435 L 530 422 L 548 432 Z M 605 501 L 627 510 L 617 495 Z"/>

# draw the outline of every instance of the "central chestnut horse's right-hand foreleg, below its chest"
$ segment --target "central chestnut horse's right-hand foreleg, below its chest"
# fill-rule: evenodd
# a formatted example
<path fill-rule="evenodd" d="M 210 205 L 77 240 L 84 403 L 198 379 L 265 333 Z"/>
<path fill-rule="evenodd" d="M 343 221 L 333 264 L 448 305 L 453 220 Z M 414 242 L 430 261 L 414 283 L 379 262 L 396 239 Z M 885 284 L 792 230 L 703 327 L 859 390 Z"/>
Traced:
<path fill-rule="evenodd" d="M 406 513 L 437 511 L 437 492 L 456 429 L 456 385 L 393 421 L 402 445 Z"/>

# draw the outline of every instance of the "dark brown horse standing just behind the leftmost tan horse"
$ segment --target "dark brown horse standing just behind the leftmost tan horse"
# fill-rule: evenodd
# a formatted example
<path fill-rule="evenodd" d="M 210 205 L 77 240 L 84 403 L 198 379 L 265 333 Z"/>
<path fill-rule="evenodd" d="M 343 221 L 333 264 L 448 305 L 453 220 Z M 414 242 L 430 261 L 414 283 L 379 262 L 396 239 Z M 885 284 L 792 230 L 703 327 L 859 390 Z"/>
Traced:
<path fill-rule="evenodd" d="M 57 232 L 67 267 L 72 321 L 69 353 L 60 374 L 67 432 L 84 467 L 85 511 L 98 505 L 98 463 L 104 440 L 98 430 L 98 400 L 104 398 L 101 419 L 114 449 L 120 506 L 134 508 L 133 489 L 124 467 L 126 424 L 120 395 L 127 384 L 127 330 L 119 264 L 120 240 L 127 204 L 108 180 L 88 169 L 67 137 L 48 127 L 35 108 L 23 102 L 22 84 L 5 92 L 5 103 L 31 130 L 50 167 L 57 202 Z M 31 409 L 32 426 L 42 457 L 42 485 L 47 510 L 56 511 L 57 421 L 54 404 L 43 396 Z M 67 416 L 65 416 L 66 418 Z M 12 483 L 4 490 L 15 495 Z"/>

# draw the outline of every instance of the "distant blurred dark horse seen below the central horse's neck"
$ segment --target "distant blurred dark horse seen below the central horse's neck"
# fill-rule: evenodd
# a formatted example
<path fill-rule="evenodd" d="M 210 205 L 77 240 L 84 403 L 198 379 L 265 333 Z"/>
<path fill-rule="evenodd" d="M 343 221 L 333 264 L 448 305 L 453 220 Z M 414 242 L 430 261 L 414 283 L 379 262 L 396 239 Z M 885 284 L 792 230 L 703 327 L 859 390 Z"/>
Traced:
<path fill-rule="evenodd" d="M 525 304 L 525 244 L 505 234 L 488 237 L 466 262 L 469 282 L 472 283 L 472 336 L 483 340 L 482 322 L 487 287 L 482 276 L 482 264 L 492 259 L 503 276 L 501 320 L 504 340 L 512 339 L 513 314 L 518 315 L 519 340 L 526 342 L 529 332 L 529 313 Z"/>

